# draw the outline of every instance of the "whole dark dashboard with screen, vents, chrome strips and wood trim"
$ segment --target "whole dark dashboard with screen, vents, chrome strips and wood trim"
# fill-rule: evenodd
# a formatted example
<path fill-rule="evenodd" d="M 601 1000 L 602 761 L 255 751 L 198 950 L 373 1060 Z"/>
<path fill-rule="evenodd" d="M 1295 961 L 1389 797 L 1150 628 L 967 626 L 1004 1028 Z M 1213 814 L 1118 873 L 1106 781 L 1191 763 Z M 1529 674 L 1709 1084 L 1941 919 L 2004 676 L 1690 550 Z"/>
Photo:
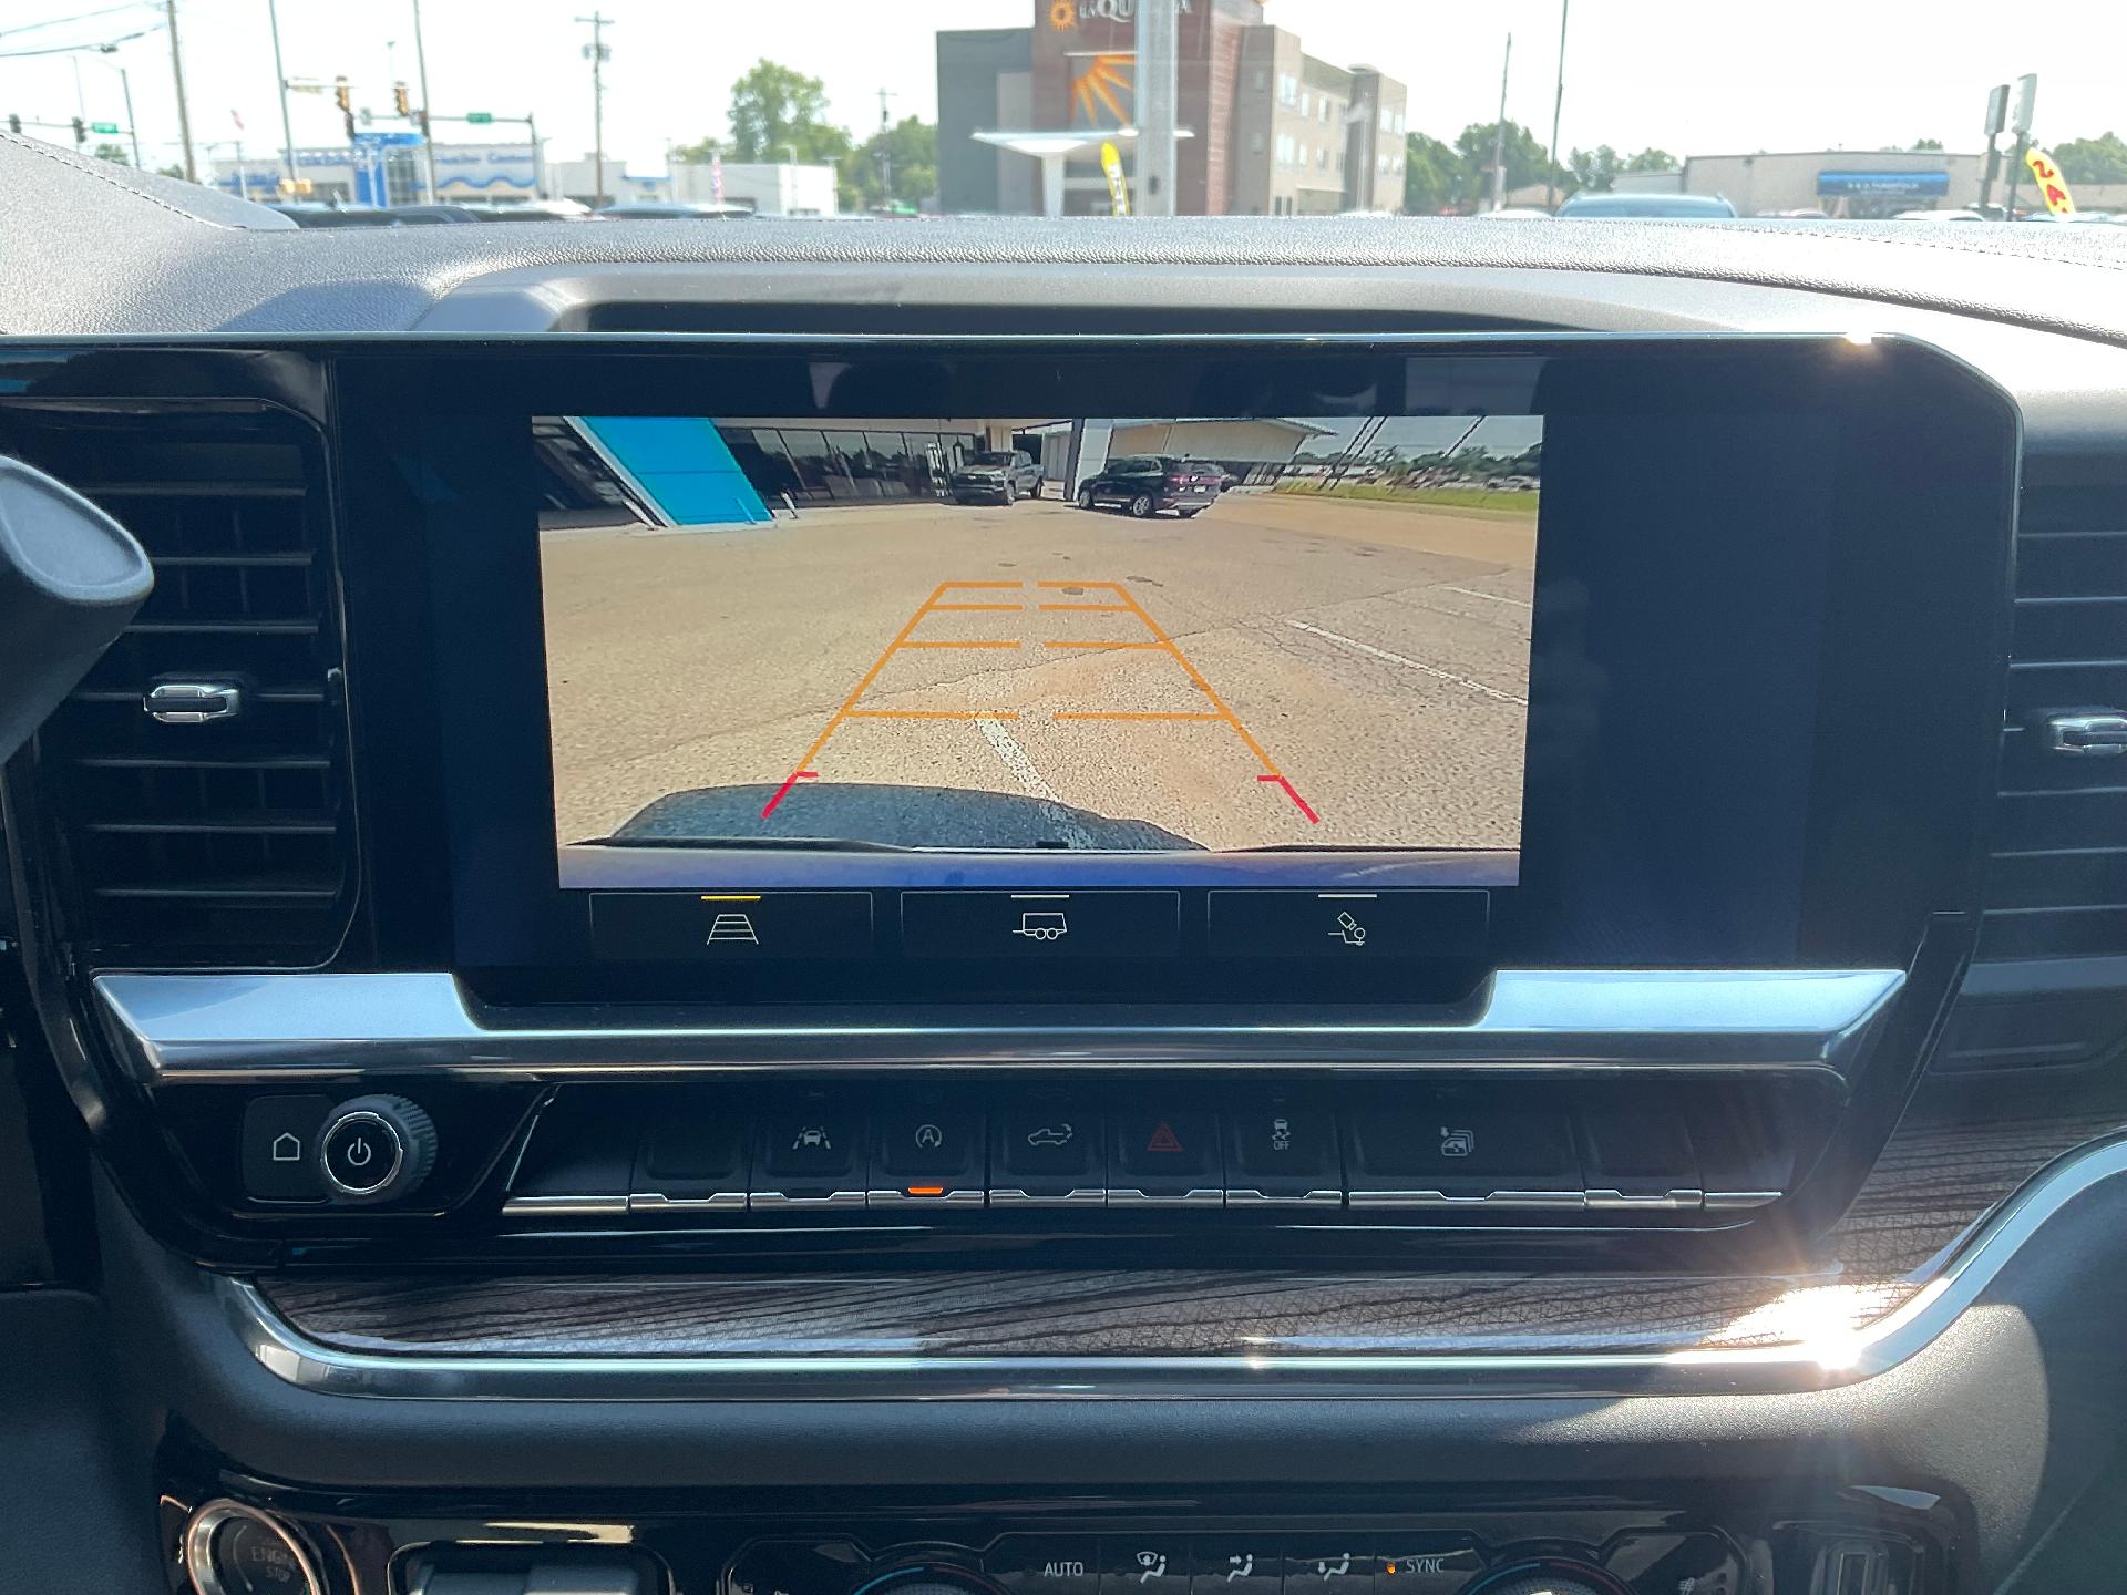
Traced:
<path fill-rule="evenodd" d="M 2116 1510 L 2080 242 L 143 211 L 72 245 L 189 321 L 0 340 L 155 574 L 0 780 L 94 1233 L 0 1308 L 96 1302 L 157 1586 L 1933 1595 Z"/>

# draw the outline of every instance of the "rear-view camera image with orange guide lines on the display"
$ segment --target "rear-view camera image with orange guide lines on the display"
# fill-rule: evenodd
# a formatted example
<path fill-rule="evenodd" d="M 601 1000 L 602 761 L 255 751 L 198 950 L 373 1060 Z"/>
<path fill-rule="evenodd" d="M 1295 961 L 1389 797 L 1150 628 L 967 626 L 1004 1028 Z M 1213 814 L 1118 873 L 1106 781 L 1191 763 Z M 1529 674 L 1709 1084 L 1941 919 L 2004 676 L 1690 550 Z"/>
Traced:
<path fill-rule="evenodd" d="M 776 840 L 1512 880 L 1536 417 L 532 427 L 564 885 Z"/>

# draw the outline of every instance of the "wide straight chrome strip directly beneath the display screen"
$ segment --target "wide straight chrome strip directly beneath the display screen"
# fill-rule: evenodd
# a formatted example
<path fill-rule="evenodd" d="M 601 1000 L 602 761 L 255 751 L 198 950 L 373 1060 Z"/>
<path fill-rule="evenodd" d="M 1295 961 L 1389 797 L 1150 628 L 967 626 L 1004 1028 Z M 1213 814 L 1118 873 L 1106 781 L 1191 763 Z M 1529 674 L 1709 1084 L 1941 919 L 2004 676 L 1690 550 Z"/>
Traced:
<path fill-rule="evenodd" d="M 774 1023 L 515 1027 L 449 974 L 104 974 L 104 1029 L 149 1082 L 417 1070 L 508 1078 L 851 1068 L 1519 1068 L 1846 1074 L 1904 985 L 1897 970 L 1500 970 L 1466 1010 L 1132 1023 Z"/>

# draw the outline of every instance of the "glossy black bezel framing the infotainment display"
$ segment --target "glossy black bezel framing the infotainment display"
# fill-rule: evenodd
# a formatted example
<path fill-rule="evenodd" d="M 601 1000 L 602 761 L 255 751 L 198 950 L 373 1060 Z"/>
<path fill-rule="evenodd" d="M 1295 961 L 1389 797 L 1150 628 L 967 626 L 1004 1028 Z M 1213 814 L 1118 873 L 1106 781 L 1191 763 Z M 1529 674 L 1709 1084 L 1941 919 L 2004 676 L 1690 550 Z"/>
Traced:
<path fill-rule="evenodd" d="M 1838 576 L 1827 583 L 1823 617 L 1795 936 L 1785 955 L 1748 963 L 1904 966 L 1931 914 L 1970 914 L 1978 904 L 1978 838 L 1993 780 L 2006 653 L 2016 413 L 1982 376 L 1925 345 L 1604 334 L 1129 340 L 755 334 L 566 338 L 464 347 L 449 355 L 349 351 L 338 359 L 338 400 L 349 510 L 359 527 L 349 540 L 351 681 L 366 732 L 359 744 L 425 757 L 442 772 L 438 800 L 428 806 L 442 827 L 442 844 L 430 855 L 440 878 L 415 880 L 385 866 L 374 878 L 379 908 L 419 914 L 430 944 L 498 993 L 723 1002 L 1440 1000 L 1468 991 L 1485 968 L 1508 963 L 1738 963 L 1678 959 L 1674 948 L 1663 957 L 1636 955 L 1629 934 L 1576 934 L 1580 944 L 1572 944 L 1574 938 L 1546 929 L 1540 893 L 1519 887 L 1493 893 L 1493 934 L 1480 957 L 1361 974 L 1208 959 L 1200 940 L 1185 940 L 1172 968 L 1087 959 L 1070 970 L 1051 966 L 1038 980 L 1021 966 L 925 968 L 898 957 L 891 944 L 861 966 L 783 966 L 761 976 L 593 961 L 576 929 L 583 893 L 568 893 L 555 880 L 551 787 L 527 785 L 534 761 L 545 772 L 540 780 L 551 783 L 536 583 L 527 595 L 521 570 L 485 570 L 506 598 L 489 617 L 504 621 L 491 634 L 491 659 L 485 668 L 468 666 L 464 651 L 453 649 L 453 636 L 464 632 L 453 610 L 474 591 L 468 581 L 483 578 L 481 561 L 468 566 L 457 555 L 468 547 L 493 553 L 510 536 L 527 536 L 530 521 L 521 515 L 527 485 L 513 485 L 502 459 L 451 464 L 436 440 L 453 421 L 464 430 L 521 427 L 538 413 L 713 413 L 700 400 L 710 370 L 757 393 L 749 413 L 827 417 L 810 381 L 819 362 L 870 364 L 881 383 L 891 381 L 891 413 L 900 415 L 934 406 L 938 415 L 1025 406 L 1102 413 L 1085 408 L 1089 381 L 1132 393 L 1134 413 L 1336 413 L 1323 408 L 1325 393 L 1368 393 L 1363 402 L 1380 404 L 1389 370 L 1414 381 L 1419 400 L 1440 406 L 1474 406 L 1483 396 L 1506 410 L 1517 406 L 1500 404 L 1502 391 L 1534 393 L 1527 408 L 1546 417 L 1546 430 L 1553 415 L 1576 406 L 1638 406 L 1678 417 L 1708 406 L 1736 417 L 1836 413 L 1848 442 L 1831 493 L 1838 523 L 1825 534 Z M 910 381 L 929 385 L 932 404 L 910 402 Z M 1255 398 L 1206 404 L 1210 393 Z M 1115 408 L 1110 400 L 1106 413 Z M 847 404 L 832 410 L 834 417 L 866 413 L 887 410 Z M 1404 413 L 1470 408 L 1425 410 L 1406 402 Z M 1538 536 L 1540 589 L 1544 536 Z M 1933 566 L 1914 589 L 1908 561 L 1919 538 L 1927 540 Z M 415 629 L 393 636 L 393 627 L 372 625 L 385 610 L 379 583 L 400 604 L 411 585 L 428 598 Z M 536 691 L 525 691 L 527 678 L 536 678 Z M 408 712 L 415 702 L 421 712 Z M 498 725 L 498 710 L 506 725 Z M 1531 704 L 1531 740 L 1536 715 Z M 536 751 L 523 744 L 532 723 Z M 493 753 L 504 744 L 513 753 L 498 763 Z M 536 812 L 538 823 L 521 823 L 525 812 Z M 530 844 L 534 836 L 540 846 Z M 1523 836 L 1527 849 L 1527 821 Z M 1042 878 L 1036 872 L 1044 861 L 1029 859 L 1027 878 Z M 1185 902 L 1185 923 L 1191 906 Z"/>

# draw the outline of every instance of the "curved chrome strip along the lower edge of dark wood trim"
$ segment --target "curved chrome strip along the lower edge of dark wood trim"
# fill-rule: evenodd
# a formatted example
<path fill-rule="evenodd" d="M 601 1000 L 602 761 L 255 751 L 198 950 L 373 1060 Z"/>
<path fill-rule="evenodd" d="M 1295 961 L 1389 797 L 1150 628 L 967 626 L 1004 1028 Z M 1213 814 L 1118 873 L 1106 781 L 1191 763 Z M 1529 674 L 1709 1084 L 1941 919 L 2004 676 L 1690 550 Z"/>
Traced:
<path fill-rule="evenodd" d="M 2002 1202 L 1904 1306 L 1865 1329 L 1780 1346 L 1591 1355 L 1227 1357 L 393 1357 L 336 1350 L 287 1323 L 253 1287 L 215 1287 L 245 1350 L 321 1395 L 519 1401 L 785 1399 L 1332 1399 L 1480 1395 L 1751 1395 L 1874 1378 L 1972 1308 L 2010 1257 L 2076 1197 L 2127 1174 L 2127 1134 L 2057 1159 Z"/>

